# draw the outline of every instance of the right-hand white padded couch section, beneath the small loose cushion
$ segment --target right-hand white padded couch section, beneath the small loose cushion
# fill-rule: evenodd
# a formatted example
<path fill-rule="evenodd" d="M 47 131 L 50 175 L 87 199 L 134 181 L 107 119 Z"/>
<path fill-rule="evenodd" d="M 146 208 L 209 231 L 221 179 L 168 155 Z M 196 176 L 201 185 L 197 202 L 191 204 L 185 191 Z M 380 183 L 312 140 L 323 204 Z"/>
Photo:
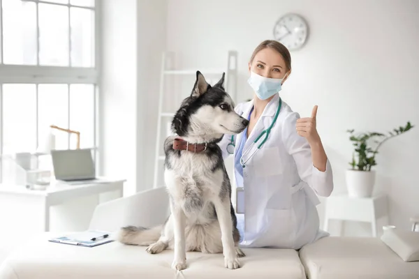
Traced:
<path fill-rule="evenodd" d="M 419 278 L 419 262 L 403 262 L 379 238 L 329 236 L 300 250 L 309 279 Z"/>

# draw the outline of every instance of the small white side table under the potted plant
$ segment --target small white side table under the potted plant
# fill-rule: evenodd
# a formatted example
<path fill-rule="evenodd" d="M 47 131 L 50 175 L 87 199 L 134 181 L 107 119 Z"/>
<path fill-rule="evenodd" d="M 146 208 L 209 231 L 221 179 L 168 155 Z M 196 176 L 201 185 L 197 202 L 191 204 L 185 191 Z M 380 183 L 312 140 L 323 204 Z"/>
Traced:
<path fill-rule="evenodd" d="M 385 195 L 376 197 L 348 197 L 347 195 L 335 195 L 326 199 L 325 222 L 323 229 L 327 232 L 329 220 L 360 221 L 371 223 L 372 236 L 377 236 L 377 220 L 385 218 L 388 225 L 388 204 Z M 341 232 L 343 231 L 341 225 Z M 340 233 L 341 235 L 342 233 Z"/>

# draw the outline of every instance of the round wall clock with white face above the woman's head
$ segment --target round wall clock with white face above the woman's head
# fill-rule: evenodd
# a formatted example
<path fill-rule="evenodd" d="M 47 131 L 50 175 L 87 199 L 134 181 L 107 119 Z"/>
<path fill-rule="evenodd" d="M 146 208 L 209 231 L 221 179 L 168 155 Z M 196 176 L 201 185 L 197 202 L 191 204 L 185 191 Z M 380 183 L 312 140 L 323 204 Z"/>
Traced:
<path fill-rule="evenodd" d="M 297 50 L 304 45 L 309 27 L 300 15 L 288 14 L 281 17 L 274 27 L 274 38 L 288 50 Z"/>

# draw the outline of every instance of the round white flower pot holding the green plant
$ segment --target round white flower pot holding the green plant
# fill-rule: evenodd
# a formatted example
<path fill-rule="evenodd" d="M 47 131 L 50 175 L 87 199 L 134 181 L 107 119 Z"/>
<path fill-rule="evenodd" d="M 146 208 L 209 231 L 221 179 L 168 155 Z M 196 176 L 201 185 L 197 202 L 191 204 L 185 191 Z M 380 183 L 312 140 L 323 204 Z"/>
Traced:
<path fill-rule="evenodd" d="M 355 169 L 346 170 L 346 187 L 349 197 L 371 197 L 376 173 Z"/>

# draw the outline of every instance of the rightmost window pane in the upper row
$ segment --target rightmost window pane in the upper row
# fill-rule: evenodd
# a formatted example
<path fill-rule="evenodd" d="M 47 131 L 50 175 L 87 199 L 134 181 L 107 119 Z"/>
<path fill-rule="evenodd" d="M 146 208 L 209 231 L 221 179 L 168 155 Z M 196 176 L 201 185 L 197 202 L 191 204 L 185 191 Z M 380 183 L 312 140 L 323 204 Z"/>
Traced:
<path fill-rule="evenodd" d="M 70 8 L 71 66 L 94 66 L 94 11 Z"/>

